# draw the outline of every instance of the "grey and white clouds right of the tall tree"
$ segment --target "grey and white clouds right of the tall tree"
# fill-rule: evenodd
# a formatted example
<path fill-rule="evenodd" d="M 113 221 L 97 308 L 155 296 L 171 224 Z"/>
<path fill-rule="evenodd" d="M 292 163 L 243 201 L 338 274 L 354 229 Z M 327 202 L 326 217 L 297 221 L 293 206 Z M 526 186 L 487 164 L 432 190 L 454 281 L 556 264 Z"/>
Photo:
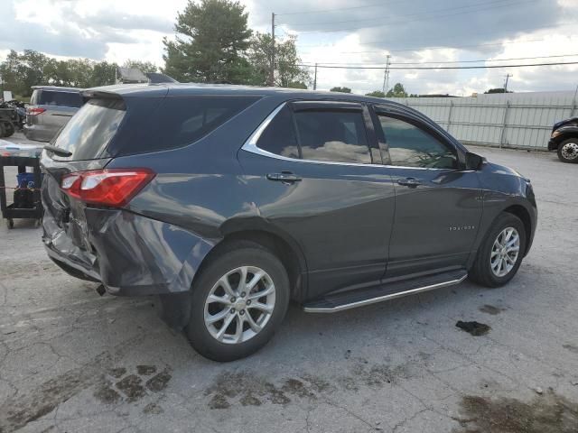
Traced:
<path fill-rule="evenodd" d="M 383 66 L 387 53 L 391 54 L 394 67 L 406 62 L 578 53 L 568 43 L 569 36 L 575 34 L 578 0 L 384 0 L 381 4 L 368 4 L 372 6 L 360 7 L 347 0 L 294 0 L 288 7 L 279 0 L 253 0 L 251 9 L 278 13 L 278 32 L 297 34 L 301 57 L 310 64 Z M 256 24 L 264 26 L 270 20 L 262 12 L 252 17 Z M 334 29 L 341 32 L 325 32 Z M 415 65 L 406 67 L 411 66 Z M 573 88 L 572 71 L 572 67 L 516 69 L 510 71 L 514 73 L 511 88 Z M 507 72 L 508 69 L 396 69 L 390 71 L 389 86 L 402 82 L 410 93 L 469 95 L 502 86 Z M 319 69 L 318 85 L 325 89 L 347 86 L 357 93 L 367 93 L 381 89 L 383 69 Z"/>

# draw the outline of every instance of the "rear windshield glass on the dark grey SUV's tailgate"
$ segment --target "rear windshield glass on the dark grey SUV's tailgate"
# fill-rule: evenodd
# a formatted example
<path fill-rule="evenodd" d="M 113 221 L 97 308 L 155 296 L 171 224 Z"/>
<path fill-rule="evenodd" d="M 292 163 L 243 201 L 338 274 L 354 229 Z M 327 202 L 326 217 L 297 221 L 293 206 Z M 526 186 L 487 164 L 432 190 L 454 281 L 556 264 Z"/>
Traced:
<path fill-rule="evenodd" d="M 72 152 L 67 160 L 97 159 L 117 133 L 125 114 L 125 104 L 121 99 L 91 99 L 72 116 L 54 145 Z M 53 158 L 61 159 L 57 155 Z"/>

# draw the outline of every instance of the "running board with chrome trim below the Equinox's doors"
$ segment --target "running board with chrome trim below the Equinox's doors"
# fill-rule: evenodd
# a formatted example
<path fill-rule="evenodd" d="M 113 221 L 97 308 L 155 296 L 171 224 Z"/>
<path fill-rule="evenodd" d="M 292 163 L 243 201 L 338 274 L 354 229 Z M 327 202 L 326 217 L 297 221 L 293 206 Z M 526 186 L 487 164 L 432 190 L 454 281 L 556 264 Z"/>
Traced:
<path fill-rule="evenodd" d="M 385 286 L 385 288 L 378 290 L 381 291 L 381 294 L 376 293 L 376 290 L 371 290 L 371 294 L 367 293 L 368 297 L 364 299 L 359 299 L 363 297 L 363 293 L 357 292 L 351 293 L 349 297 L 330 296 L 327 299 L 320 299 L 318 301 L 305 304 L 303 306 L 303 311 L 307 313 L 337 313 L 338 311 L 343 311 L 345 309 L 355 309 L 357 307 L 363 307 L 365 305 L 375 304 L 385 300 L 415 295 L 417 293 L 423 293 L 424 291 L 428 290 L 441 289 L 443 287 L 452 286 L 454 284 L 459 284 L 461 281 L 464 281 L 468 277 L 468 272 L 447 272 L 447 274 L 442 274 L 440 277 L 441 276 L 451 276 L 452 278 L 445 281 L 439 281 L 439 279 L 428 279 L 422 281 L 424 285 L 415 284 L 415 286 L 419 287 L 394 292 L 387 290 L 387 286 Z M 432 280 L 438 281 L 434 282 Z M 415 282 L 417 283 L 418 281 Z M 385 290 L 387 290 L 386 294 L 383 293 Z M 350 298 L 349 301 L 347 298 Z"/>

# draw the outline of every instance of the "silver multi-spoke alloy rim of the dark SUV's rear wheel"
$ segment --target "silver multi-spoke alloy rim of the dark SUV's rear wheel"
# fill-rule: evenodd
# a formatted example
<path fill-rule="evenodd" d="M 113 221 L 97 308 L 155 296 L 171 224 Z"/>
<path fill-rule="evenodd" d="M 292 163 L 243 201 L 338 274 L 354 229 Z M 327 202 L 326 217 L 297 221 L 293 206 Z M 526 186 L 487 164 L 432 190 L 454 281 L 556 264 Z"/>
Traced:
<path fill-rule="evenodd" d="M 275 284 L 256 266 L 241 266 L 219 278 L 205 301 L 205 326 L 225 344 L 244 343 L 256 336 L 275 309 Z"/>

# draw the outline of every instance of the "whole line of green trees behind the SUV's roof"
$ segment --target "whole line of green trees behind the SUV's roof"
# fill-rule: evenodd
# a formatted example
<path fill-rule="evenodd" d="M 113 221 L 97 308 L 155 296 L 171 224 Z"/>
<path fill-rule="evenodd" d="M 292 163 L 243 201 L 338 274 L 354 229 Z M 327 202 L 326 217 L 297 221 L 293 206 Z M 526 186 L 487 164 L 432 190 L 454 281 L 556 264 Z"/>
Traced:
<path fill-rule="evenodd" d="M 177 15 L 175 37 L 164 39 L 160 70 L 182 82 L 266 86 L 271 69 L 273 39 L 247 25 L 245 6 L 230 0 L 189 1 Z M 275 86 L 307 88 L 312 78 L 298 65 L 296 37 L 275 41 Z M 144 73 L 159 69 L 151 62 L 126 60 L 122 65 L 89 59 L 58 60 L 42 52 L 10 51 L 0 63 L 2 87 L 29 97 L 32 86 L 91 88 L 113 84 L 117 66 Z"/>

